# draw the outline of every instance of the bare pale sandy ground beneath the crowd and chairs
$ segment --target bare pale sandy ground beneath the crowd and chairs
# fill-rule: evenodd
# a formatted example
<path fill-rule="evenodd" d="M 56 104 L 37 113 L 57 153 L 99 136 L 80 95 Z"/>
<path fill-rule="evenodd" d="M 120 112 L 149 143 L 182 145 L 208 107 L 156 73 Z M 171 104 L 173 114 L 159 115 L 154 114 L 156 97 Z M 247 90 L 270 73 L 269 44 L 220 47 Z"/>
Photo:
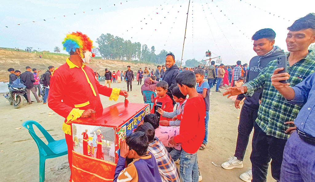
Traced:
<path fill-rule="evenodd" d="M 104 82 L 102 82 L 104 83 Z M 143 103 L 140 93 L 140 85 L 133 82 L 133 91 L 129 93 L 129 102 Z M 112 87 L 126 89 L 126 83 L 112 83 Z M 214 91 L 212 89 L 211 91 Z M 221 90 L 223 92 L 223 90 Z M 136 95 L 136 96 L 134 96 Z M 32 96 L 33 97 L 33 96 Z M 103 107 L 113 105 L 116 102 L 109 101 L 107 97 L 100 96 Z M 4 97 L 0 97 L 0 181 L 3 182 L 36 182 L 39 181 L 39 157 L 36 143 L 31 139 L 28 131 L 22 127 L 22 123 L 27 120 L 39 122 L 49 131 L 55 140 L 64 138 L 61 125 L 64 120 L 58 114 L 49 116 L 47 113 L 53 112 L 48 106 L 42 103 L 33 103 L 23 105 L 20 109 L 14 109 L 9 105 Z M 34 98 L 35 101 L 35 98 Z M 123 102 L 120 97 L 117 102 Z M 231 99 L 222 97 L 222 93 L 214 92 L 210 96 L 209 111 L 209 137 L 207 148 L 198 151 L 198 161 L 203 176 L 203 181 L 224 181 L 241 182 L 239 175 L 251 167 L 249 155 L 251 144 L 249 143 L 244 157 L 244 168 L 234 168 L 226 170 L 216 167 L 226 162 L 229 156 L 234 155 L 237 128 L 240 110 L 234 107 Z M 22 127 L 19 130 L 15 128 Z M 250 136 L 250 138 L 252 135 Z M 30 139 L 30 140 L 25 140 Z M 24 140 L 24 141 L 20 141 Z M 45 182 L 67 182 L 69 181 L 70 169 L 67 163 L 67 155 L 46 160 Z M 268 182 L 275 181 L 271 177 L 270 169 L 267 177 Z"/>

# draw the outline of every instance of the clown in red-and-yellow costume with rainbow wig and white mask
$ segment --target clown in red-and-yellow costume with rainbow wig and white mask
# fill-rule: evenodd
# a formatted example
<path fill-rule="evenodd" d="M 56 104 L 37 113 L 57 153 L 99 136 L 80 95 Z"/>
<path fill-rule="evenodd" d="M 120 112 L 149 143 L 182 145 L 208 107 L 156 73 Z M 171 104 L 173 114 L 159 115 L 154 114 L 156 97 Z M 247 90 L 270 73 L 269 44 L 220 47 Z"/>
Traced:
<path fill-rule="evenodd" d="M 73 150 L 71 121 L 91 117 L 94 108 L 96 113 L 102 112 L 103 106 L 99 94 L 116 101 L 119 95 L 128 97 L 128 93 L 117 88 L 102 86 L 95 79 L 94 71 L 87 66 L 90 63 L 90 57 L 94 56 L 91 53 L 92 41 L 87 35 L 72 32 L 66 35 L 62 44 L 70 57 L 52 73 L 48 106 L 65 118 L 62 130 L 65 133 L 71 170 Z M 72 181 L 71 175 L 70 181 Z"/>

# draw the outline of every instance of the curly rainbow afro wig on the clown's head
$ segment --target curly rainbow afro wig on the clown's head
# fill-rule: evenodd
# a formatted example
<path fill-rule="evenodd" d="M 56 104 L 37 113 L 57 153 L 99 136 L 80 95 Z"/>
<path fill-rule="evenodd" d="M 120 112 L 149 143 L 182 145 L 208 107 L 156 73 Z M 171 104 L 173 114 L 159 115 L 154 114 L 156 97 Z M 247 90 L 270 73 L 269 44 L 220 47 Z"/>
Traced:
<path fill-rule="evenodd" d="M 93 41 L 90 38 L 79 31 L 67 34 L 66 38 L 62 42 L 63 50 L 66 50 L 69 54 L 70 52 L 75 52 L 76 48 L 80 49 L 81 57 L 83 58 L 83 51 L 91 52 L 93 48 Z"/>

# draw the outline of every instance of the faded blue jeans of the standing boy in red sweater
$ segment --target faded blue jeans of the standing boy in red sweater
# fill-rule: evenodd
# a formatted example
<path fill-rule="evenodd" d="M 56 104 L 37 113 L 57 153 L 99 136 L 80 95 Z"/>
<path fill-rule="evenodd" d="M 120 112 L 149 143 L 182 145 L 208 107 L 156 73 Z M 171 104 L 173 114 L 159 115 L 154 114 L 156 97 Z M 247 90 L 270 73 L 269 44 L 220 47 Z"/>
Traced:
<path fill-rule="evenodd" d="M 180 178 L 183 182 L 198 182 L 198 157 L 197 152 L 191 154 L 181 150 Z"/>

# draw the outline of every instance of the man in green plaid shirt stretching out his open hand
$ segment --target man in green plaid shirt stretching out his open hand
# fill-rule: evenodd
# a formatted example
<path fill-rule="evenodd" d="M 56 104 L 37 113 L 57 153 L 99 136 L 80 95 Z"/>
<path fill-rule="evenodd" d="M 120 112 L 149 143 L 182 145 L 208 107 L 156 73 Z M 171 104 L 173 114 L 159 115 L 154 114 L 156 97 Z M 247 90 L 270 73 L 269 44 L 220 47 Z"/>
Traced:
<path fill-rule="evenodd" d="M 290 27 L 286 38 L 288 47 L 288 70 L 290 77 L 288 83 L 295 86 L 315 71 L 315 54 L 308 51 L 314 42 L 315 15 L 308 14 L 296 20 Z M 272 177 L 280 180 L 280 168 L 283 159 L 284 146 L 289 133 L 295 127 L 293 123 L 301 105 L 289 103 L 272 85 L 271 76 L 277 69 L 277 60 L 271 61 L 265 69 L 255 78 L 240 87 L 228 88 L 223 95 L 238 95 L 246 93 L 251 95 L 254 91 L 263 88 L 261 105 L 258 117 L 254 123 L 252 141 L 253 182 L 266 181 L 268 163 L 271 162 Z"/>

